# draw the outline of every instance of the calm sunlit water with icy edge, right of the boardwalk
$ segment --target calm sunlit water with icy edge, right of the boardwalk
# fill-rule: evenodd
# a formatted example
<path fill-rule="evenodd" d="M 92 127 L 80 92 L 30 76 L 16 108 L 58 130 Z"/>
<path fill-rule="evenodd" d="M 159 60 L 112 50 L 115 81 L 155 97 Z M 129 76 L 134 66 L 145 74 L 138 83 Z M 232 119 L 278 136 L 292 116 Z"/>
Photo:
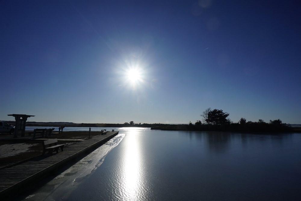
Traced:
<path fill-rule="evenodd" d="M 26 200 L 299 200 L 301 134 L 119 128 Z"/>

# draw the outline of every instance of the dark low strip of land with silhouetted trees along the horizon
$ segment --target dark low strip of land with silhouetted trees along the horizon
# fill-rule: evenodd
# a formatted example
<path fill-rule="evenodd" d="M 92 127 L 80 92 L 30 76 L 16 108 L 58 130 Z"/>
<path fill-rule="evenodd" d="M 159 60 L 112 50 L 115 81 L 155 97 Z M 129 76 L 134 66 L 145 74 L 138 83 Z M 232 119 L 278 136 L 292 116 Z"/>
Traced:
<path fill-rule="evenodd" d="M 225 131 L 225 132 L 301 132 L 301 124 L 285 124 L 280 119 L 270 120 L 269 123 L 259 119 L 257 122 L 247 121 L 240 118 L 238 122 L 233 122 L 228 118 L 229 113 L 221 109 L 207 108 L 200 114 L 201 120 L 194 124 L 189 121 L 188 124 L 162 124 L 162 123 L 134 123 L 134 121 L 120 123 L 73 123 L 73 122 L 26 122 L 27 126 L 70 126 L 70 127 L 143 127 L 152 130 L 168 131 Z M 6 121 L 11 125 L 15 121 Z"/>

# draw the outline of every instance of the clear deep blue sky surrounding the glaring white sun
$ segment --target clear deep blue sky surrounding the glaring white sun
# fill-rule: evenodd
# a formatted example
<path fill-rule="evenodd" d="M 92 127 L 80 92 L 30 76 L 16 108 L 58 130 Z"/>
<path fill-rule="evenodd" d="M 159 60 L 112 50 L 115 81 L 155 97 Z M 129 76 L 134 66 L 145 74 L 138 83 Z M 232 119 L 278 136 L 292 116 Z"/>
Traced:
<path fill-rule="evenodd" d="M 298 1 L 1 1 L 0 119 L 301 123 Z M 138 70 L 137 80 L 128 76 Z"/>

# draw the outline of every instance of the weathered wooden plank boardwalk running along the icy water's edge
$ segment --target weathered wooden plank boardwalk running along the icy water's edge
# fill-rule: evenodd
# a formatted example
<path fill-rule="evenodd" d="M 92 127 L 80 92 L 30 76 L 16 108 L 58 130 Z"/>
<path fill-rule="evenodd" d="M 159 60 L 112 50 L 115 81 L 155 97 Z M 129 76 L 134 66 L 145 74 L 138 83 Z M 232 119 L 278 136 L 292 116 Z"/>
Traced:
<path fill-rule="evenodd" d="M 64 147 L 63 152 L 59 149 L 57 154 L 46 153 L 45 156 L 37 156 L 18 165 L 0 169 L 0 197 L 8 198 L 22 188 L 46 178 L 51 172 L 70 160 L 75 160 L 77 157 L 95 150 L 117 134 L 118 131 L 107 132 L 107 135 L 98 135 Z"/>

